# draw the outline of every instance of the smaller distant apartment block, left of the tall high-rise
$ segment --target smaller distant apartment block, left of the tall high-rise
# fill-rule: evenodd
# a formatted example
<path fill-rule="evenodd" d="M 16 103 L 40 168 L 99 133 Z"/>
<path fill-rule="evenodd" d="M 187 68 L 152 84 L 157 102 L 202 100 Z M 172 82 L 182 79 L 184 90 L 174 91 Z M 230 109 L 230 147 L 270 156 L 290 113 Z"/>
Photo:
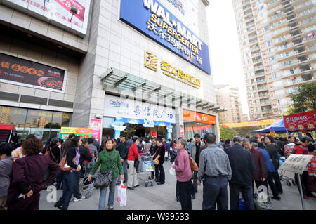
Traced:
<path fill-rule="evenodd" d="M 218 113 L 221 123 L 237 123 L 242 121 L 242 104 L 239 89 L 228 85 L 214 86 L 216 103 L 227 108 L 225 112 Z"/>

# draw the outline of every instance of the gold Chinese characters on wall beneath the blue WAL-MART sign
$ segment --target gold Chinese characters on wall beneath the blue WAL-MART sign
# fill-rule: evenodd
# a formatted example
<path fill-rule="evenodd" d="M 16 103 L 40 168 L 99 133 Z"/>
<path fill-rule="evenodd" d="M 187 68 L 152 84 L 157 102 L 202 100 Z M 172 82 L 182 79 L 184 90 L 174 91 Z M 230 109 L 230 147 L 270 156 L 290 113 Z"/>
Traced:
<path fill-rule="evenodd" d="M 151 58 L 155 58 L 156 60 L 151 60 Z M 145 67 L 154 70 L 153 68 L 157 67 L 157 60 L 158 58 L 155 55 L 148 51 L 145 51 Z M 160 68 L 162 70 L 162 73 L 168 77 L 177 79 L 178 81 L 181 81 L 195 88 L 201 87 L 201 81 L 199 79 L 196 79 L 194 76 L 174 67 L 173 65 L 169 64 L 169 62 L 162 60 L 162 62 L 160 63 Z"/>

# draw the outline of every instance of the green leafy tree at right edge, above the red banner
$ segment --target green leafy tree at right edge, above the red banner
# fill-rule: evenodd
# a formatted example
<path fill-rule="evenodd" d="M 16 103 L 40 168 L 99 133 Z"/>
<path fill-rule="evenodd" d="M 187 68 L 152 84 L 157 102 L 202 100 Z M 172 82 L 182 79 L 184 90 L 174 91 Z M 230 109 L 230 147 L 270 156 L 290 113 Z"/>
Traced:
<path fill-rule="evenodd" d="M 316 85 L 301 84 L 298 86 L 298 94 L 291 94 L 293 104 L 288 107 L 287 114 L 297 114 L 316 110 Z"/>

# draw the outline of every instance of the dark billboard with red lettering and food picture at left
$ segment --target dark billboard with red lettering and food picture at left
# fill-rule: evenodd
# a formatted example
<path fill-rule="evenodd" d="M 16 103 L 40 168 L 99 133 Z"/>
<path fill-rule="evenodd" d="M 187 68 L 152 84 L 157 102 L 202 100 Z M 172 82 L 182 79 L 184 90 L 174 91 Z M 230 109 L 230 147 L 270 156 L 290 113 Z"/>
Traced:
<path fill-rule="evenodd" d="M 65 90 L 65 70 L 0 53 L 0 81 L 7 80 L 45 90 Z"/>

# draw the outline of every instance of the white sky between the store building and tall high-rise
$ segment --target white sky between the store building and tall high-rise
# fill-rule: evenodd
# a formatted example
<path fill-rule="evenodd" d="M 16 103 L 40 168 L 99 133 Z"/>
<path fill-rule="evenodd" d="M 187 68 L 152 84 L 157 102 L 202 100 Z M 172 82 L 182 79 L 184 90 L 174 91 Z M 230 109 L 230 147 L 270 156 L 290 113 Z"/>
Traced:
<path fill-rule="evenodd" d="M 206 15 L 214 84 L 238 87 L 242 99 L 242 112 L 249 115 L 242 55 L 232 0 L 211 0 L 209 3 L 209 6 L 206 7 Z"/>

